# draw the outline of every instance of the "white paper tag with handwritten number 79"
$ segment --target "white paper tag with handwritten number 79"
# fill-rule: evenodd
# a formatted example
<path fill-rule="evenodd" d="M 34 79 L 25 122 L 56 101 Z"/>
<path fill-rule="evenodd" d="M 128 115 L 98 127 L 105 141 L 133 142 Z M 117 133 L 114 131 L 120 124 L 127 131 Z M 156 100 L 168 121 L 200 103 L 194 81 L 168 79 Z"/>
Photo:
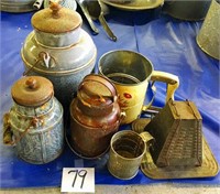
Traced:
<path fill-rule="evenodd" d="M 62 192 L 95 193 L 95 169 L 64 168 Z"/>

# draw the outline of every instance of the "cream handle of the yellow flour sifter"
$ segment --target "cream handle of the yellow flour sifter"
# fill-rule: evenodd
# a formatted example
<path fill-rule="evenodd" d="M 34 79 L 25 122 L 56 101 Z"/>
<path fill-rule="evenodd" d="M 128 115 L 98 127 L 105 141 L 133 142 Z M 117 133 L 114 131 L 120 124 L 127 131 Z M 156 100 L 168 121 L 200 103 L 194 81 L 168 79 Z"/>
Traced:
<path fill-rule="evenodd" d="M 163 82 L 167 84 L 166 88 L 166 103 L 172 98 L 174 100 L 174 93 L 179 86 L 179 78 L 178 76 L 166 73 L 154 71 L 151 76 L 152 82 Z"/>

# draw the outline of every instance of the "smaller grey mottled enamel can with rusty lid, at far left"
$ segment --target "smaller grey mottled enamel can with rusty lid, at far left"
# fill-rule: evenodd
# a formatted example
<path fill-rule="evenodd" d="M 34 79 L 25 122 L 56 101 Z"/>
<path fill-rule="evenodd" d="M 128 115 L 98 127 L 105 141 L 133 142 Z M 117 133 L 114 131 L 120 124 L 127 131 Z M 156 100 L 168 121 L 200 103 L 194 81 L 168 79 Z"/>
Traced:
<path fill-rule="evenodd" d="M 64 148 L 63 107 L 52 83 L 41 76 L 19 79 L 11 88 L 13 106 L 4 115 L 3 141 L 15 146 L 18 157 L 43 164 Z"/>

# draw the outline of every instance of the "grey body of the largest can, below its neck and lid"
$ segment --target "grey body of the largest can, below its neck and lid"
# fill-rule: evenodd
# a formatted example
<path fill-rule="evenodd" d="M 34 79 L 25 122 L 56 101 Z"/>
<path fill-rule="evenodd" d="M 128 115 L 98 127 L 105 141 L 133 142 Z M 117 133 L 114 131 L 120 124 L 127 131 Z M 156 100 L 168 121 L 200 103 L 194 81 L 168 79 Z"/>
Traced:
<path fill-rule="evenodd" d="M 96 64 L 97 48 L 89 34 L 80 30 L 80 41 L 69 47 L 43 46 L 31 32 L 21 50 L 29 75 L 48 78 L 55 96 L 67 108 L 74 98 L 79 83 L 90 74 Z"/>

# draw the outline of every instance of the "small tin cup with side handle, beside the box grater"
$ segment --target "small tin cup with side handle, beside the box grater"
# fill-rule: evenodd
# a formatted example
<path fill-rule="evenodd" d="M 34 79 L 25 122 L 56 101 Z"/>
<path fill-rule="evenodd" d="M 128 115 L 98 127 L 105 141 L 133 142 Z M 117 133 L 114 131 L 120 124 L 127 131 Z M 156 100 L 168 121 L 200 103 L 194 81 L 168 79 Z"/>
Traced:
<path fill-rule="evenodd" d="M 134 177 L 139 172 L 147 146 L 153 140 L 153 137 L 146 131 L 141 134 L 131 130 L 117 132 L 110 142 L 109 172 L 121 180 Z"/>

